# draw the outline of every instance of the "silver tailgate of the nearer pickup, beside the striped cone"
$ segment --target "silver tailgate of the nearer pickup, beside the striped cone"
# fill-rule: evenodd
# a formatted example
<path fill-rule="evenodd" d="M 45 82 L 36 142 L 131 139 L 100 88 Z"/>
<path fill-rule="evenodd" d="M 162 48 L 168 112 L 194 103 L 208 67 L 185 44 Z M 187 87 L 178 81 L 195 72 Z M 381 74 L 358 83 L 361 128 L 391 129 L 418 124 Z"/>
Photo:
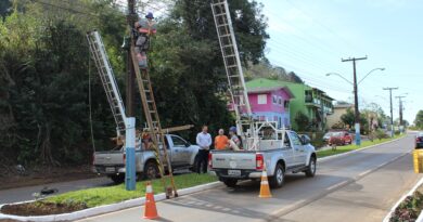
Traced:
<path fill-rule="evenodd" d="M 216 169 L 256 169 L 256 153 L 213 152 L 211 165 Z"/>

